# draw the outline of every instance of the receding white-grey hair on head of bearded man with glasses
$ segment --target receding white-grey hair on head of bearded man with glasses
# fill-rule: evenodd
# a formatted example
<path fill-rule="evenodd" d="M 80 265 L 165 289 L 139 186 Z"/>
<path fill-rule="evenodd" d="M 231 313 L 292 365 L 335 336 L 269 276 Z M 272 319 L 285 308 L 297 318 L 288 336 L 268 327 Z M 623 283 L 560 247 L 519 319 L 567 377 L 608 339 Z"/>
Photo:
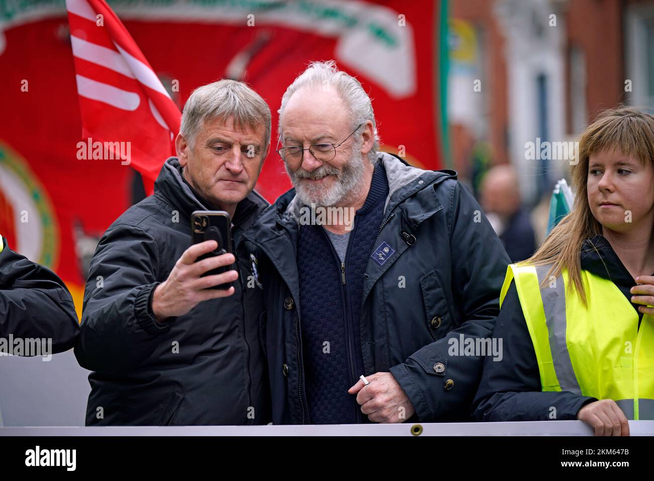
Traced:
<path fill-rule="evenodd" d="M 339 71 L 334 60 L 329 60 L 328 62 L 312 62 L 305 71 L 293 80 L 293 83 L 288 86 L 282 97 L 281 106 L 279 107 L 279 111 L 277 111 L 279 118 L 281 119 L 284 113 L 288 99 L 295 92 L 301 88 L 318 88 L 326 84 L 334 87 L 339 96 L 341 96 L 341 99 L 345 101 L 345 105 L 349 108 L 352 129 L 356 128 L 359 124 L 364 124 L 366 120 L 372 122 L 375 140 L 370 152 L 368 152 L 368 159 L 375 164 L 377 162 L 377 152 L 379 151 L 379 134 L 377 134 L 377 121 L 375 120 L 375 111 L 373 111 L 370 97 L 366 94 L 361 82 L 351 75 Z M 360 132 L 363 132 L 363 128 L 357 130 L 357 134 Z M 279 122 L 278 133 L 281 136 L 281 122 Z"/>

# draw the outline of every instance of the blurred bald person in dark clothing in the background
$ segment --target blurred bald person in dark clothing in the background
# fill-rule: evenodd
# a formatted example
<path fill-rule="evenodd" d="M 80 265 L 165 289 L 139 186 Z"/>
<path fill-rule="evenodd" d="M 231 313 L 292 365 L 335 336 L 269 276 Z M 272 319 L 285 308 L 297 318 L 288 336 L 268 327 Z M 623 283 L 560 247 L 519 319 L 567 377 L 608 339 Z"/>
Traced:
<path fill-rule="evenodd" d="M 536 250 L 534 229 L 522 203 L 515 169 L 509 165 L 491 168 L 481 182 L 481 206 L 511 262 L 525 260 Z"/>

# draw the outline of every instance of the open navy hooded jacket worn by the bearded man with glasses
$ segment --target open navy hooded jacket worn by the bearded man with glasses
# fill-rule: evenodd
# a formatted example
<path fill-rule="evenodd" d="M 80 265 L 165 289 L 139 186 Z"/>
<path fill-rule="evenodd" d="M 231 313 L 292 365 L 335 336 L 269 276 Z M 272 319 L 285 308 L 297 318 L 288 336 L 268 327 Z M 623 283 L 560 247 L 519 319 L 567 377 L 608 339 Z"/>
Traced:
<path fill-rule="evenodd" d="M 490 336 L 509 258 L 455 172 L 379 158 L 390 192 L 374 245 L 386 242 L 394 252 L 381 265 L 368 257 L 364 271 L 364 375 L 390 371 L 421 421 L 469 419 L 483 359 L 450 355 L 449 342 Z M 296 263 L 301 204 L 294 197 L 294 190 L 281 196 L 246 234 L 264 283 L 275 424 L 311 423 Z"/>

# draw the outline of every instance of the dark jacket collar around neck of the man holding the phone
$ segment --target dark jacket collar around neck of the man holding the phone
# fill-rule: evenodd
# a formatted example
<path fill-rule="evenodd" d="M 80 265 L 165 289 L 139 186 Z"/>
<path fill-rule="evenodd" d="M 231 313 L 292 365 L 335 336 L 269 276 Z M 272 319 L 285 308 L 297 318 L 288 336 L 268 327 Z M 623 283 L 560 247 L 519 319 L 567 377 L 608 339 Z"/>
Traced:
<path fill-rule="evenodd" d="M 177 157 L 170 157 L 164 163 L 154 183 L 154 194 L 167 203 L 179 209 L 180 214 L 189 218 L 196 210 L 214 210 L 207 201 L 199 196 L 182 177 L 182 166 Z M 234 226 L 247 228 L 252 224 L 256 213 L 262 211 L 268 204 L 256 190 L 236 206 L 232 223 Z"/>

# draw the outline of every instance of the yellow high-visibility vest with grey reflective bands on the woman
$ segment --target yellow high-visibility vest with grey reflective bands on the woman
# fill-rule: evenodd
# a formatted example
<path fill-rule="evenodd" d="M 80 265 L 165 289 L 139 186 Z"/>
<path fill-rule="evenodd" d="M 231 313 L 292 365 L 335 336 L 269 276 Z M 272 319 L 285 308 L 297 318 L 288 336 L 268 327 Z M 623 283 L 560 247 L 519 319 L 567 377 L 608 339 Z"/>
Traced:
<path fill-rule="evenodd" d="M 588 307 L 568 271 L 511 264 L 500 306 L 515 280 L 543 391 L 613 399 L 628 419 L 654 419 L 654 317 L 638 312 L 614 283 L 581 270 Z"/>

